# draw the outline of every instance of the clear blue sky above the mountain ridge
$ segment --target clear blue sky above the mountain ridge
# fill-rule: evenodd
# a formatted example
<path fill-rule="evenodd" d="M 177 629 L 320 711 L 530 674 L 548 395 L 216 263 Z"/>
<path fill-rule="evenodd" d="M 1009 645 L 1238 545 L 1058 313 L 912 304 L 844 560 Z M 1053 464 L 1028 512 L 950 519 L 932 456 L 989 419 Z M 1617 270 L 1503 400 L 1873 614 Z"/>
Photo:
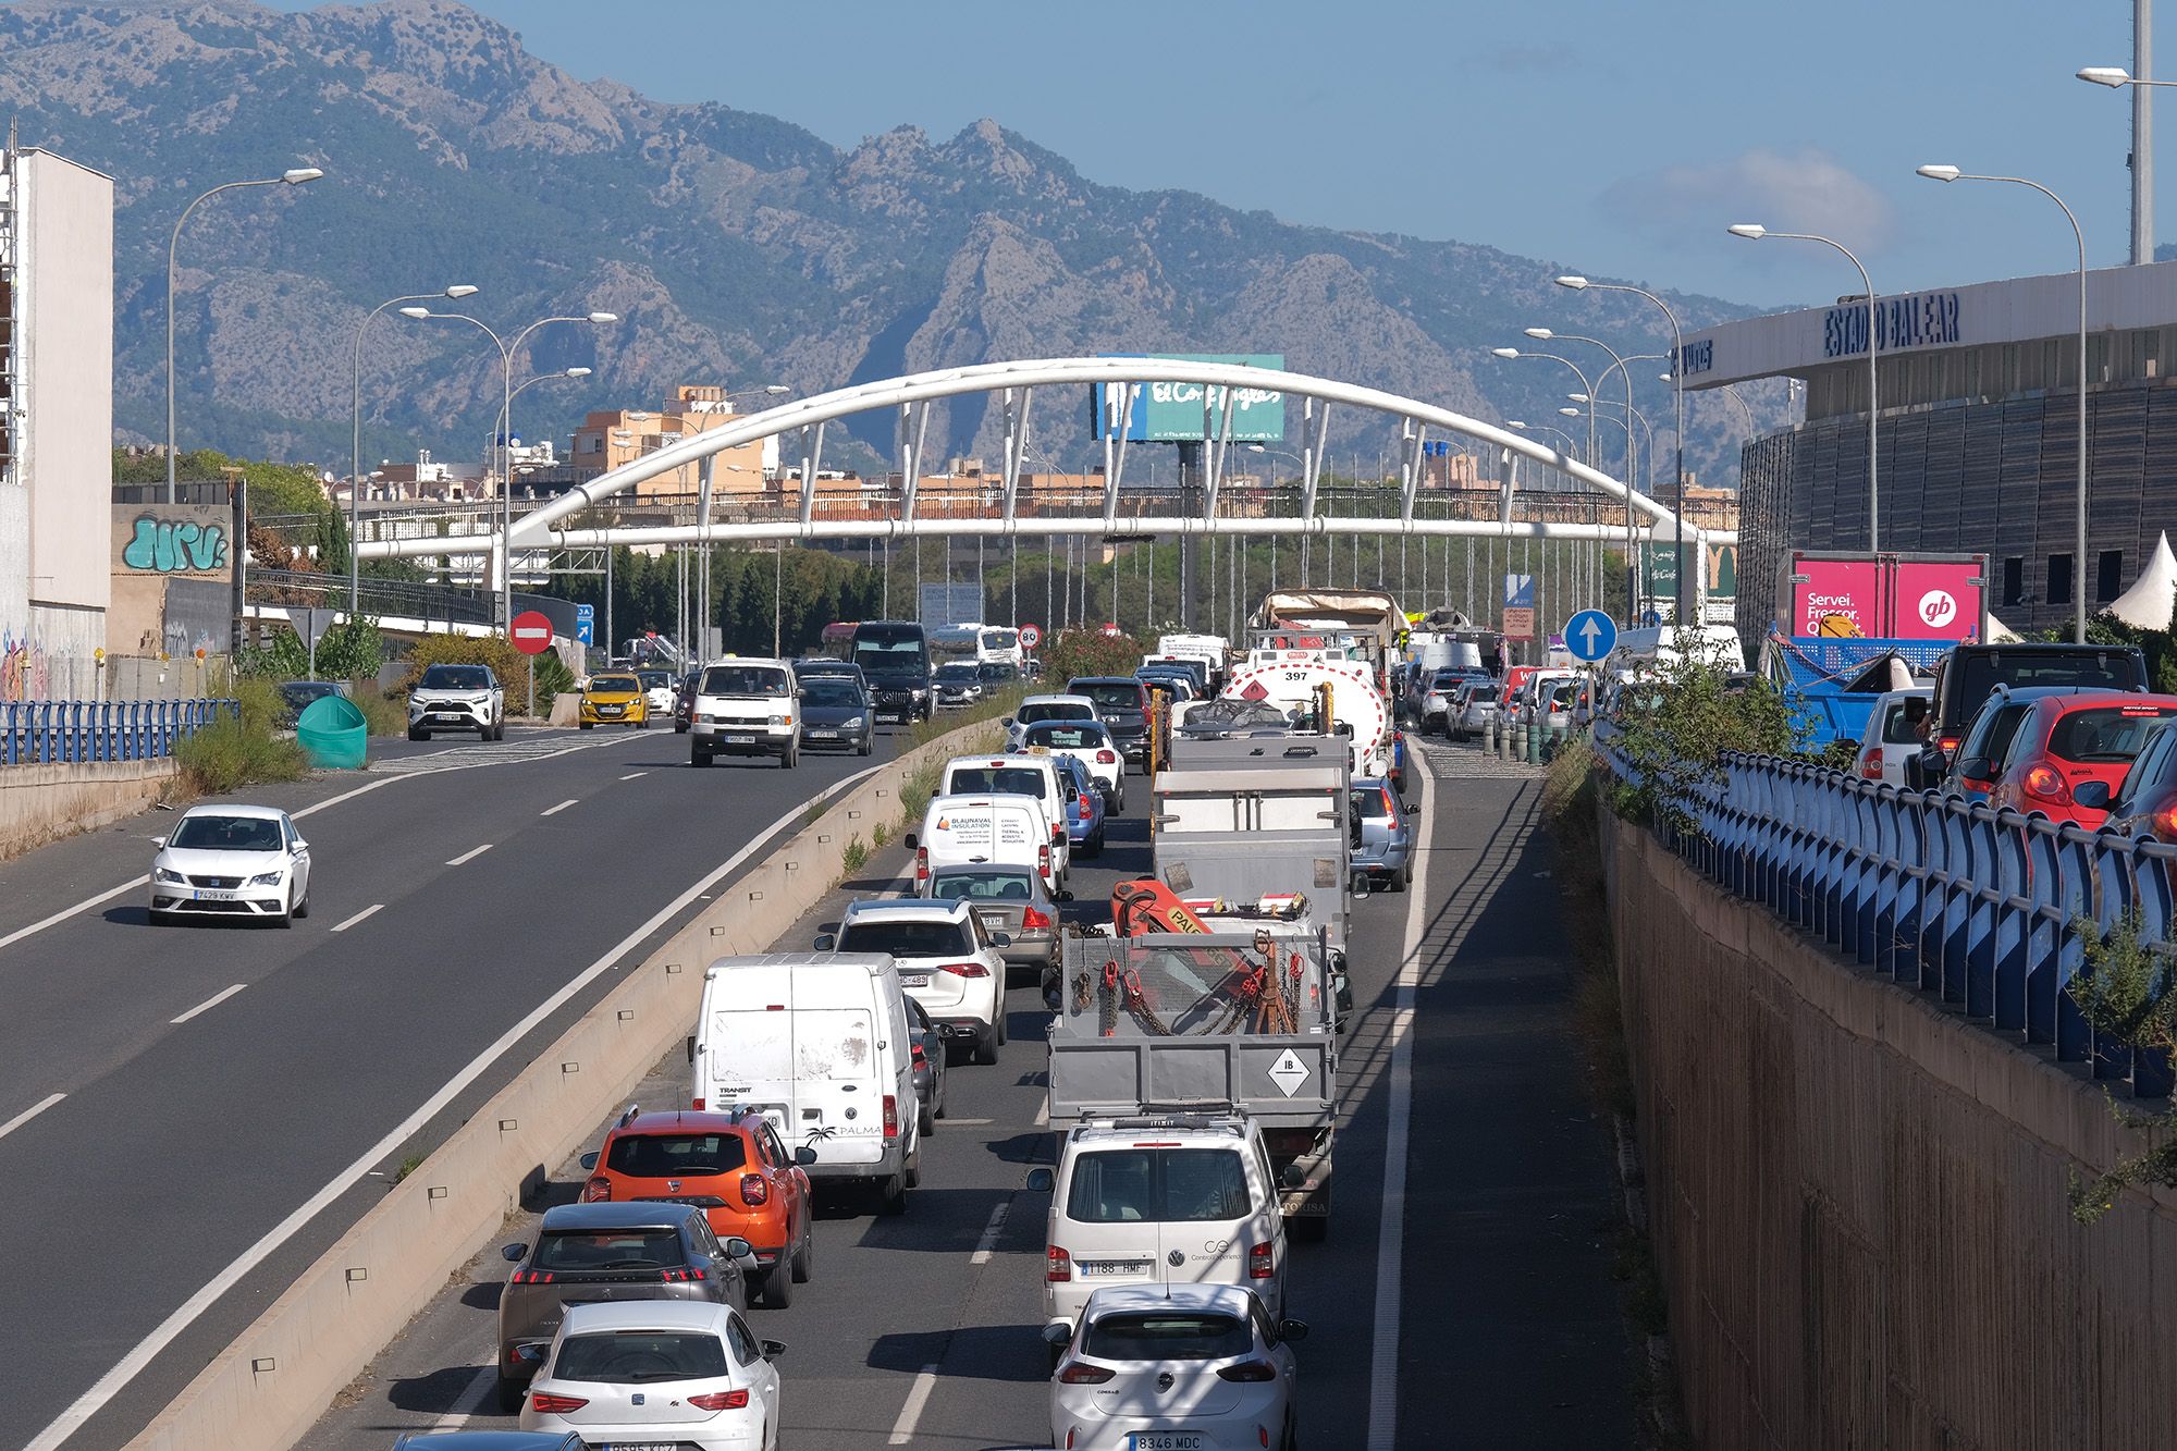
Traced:
<path fill-rule="evenodd" d="M 782 115 L 840 146 L 980 115 L 1086 176 L 1293 222 L 1500 246 L 1746 303 L 2073 266 L 2129 242 L 2123 0 L 470 0 L 581 78 Z M 307 9 L 283 0 L 285 9 Z M 2164 7 L 2177 76 L 2177 7 Z M 2177 92 L 2160 92 L 2177 174 Z M 2160 187 L 2177 237 L 2177 190 Z"/>

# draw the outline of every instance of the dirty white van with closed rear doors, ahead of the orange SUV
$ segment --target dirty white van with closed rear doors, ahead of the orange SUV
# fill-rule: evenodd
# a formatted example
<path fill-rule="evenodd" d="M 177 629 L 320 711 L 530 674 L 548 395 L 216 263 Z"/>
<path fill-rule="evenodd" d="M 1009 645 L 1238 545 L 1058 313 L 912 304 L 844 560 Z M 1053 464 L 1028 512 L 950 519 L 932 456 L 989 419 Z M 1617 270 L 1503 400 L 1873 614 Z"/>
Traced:
<path fill-rule="evenodd" d="M 853 1181 L 908 1207 L 921 1176 L 914 1039 L 882 952 L 723 956 L 703 974 L 688 1044 L 690 1105 L 753 1109 L 786 1148 L 812 1148 L 812 1181 Z"/>

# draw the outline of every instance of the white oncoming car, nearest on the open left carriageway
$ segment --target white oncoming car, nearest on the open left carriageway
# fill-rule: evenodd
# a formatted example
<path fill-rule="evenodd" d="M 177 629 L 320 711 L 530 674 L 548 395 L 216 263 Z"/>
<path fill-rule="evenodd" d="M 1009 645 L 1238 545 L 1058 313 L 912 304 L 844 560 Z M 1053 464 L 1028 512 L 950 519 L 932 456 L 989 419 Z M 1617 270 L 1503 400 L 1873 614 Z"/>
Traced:
<path fill-rule="evenodd" d="M 309 915 L 309 843 L 272 806 L 192 806 L 159 839 L 150 919 Z"/>

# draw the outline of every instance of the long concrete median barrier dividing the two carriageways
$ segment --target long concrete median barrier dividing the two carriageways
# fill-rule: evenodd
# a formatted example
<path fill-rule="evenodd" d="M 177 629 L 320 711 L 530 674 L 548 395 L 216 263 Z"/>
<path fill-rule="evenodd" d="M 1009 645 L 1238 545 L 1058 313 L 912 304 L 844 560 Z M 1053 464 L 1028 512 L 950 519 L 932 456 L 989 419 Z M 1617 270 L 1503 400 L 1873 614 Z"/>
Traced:
<path fill-rule="evenodd" d="M 962 754 L 988 721 L 888 763 L 823 817 L 727 885 L 505 1089 L 438 1146 L 279 1301 L 229 1344 L 128 1447 L 279 1451 L 483 1244 L 549 1172 L 686 1035 L 703 967 L 762 952 L 823 900 L 847 841 L 901 817 L 899 789 L 930 760 Z"/>

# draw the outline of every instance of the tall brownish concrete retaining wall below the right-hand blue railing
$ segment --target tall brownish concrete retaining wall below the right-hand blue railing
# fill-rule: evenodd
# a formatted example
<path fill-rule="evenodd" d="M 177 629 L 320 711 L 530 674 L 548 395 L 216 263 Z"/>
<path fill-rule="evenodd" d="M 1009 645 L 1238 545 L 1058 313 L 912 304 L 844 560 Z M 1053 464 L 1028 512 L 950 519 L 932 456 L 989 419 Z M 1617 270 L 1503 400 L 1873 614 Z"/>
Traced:
<path fill-rule="evenodd" d="M 2166 1447 L 2177 1196 L 2068 1070 L 1833 959 L 1609 813 L 1672 1353 L 1702 1447 Z"/>

